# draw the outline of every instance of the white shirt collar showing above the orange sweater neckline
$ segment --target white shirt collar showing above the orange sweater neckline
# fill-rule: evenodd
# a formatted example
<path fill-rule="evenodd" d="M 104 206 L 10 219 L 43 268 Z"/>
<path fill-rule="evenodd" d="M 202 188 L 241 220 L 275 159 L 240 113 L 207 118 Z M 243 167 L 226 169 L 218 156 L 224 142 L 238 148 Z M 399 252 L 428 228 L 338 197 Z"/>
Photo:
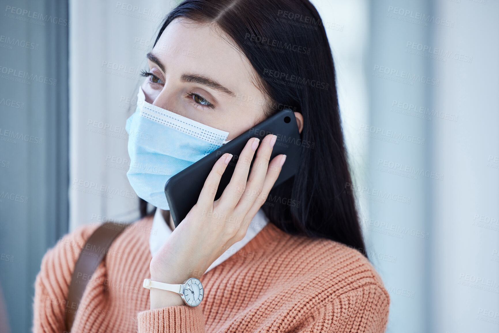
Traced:
<path fill-rule="evenodd" d="M 227 260 L 227 258 L 241 250 L 241 248 L 248 244 L 250 240 L 253 239 L 253 237 L 267 225 L 267 223 L 268 218 L 265 216 L 265 213 L 259 209 L 251 220 L 245 237 L 241 241 L 234 243 L 229 249 L 227 249 L 227 251 L 218 257 L 217 260 L 215 260 L 206 270 L 206 272 L 222 264 Z M 151 236 L 149 237 L 149 249 L 151 250 L 151 255 L 154 257 L 156 252 L 158 252 L 161 246 L 163 246 L 168 237 L 172 234 L 172 229 L 170 229 L 170 226 L 166 223 L 159 209 L 156 209 L 156 214 L 154 214 L 152 230 L 157 231 L 156 233 L 151 233 Z"/>

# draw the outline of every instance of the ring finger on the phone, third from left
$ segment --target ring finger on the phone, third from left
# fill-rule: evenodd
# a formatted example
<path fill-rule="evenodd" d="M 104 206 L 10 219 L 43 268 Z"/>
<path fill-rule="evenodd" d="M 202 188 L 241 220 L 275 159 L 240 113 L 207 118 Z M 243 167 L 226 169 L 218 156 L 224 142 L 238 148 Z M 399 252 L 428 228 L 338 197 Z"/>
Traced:
<path fill-rule="evenodd" d="M 250 178 L 246 183 L 246 190 L 236 206 L 239 213 L 246 215 L 253 205 L 254 200 L 263 189 L 263 181 L 267 174 L 270 156 L 276 139 L 276 135 L 270 134 L 265 136 L 261 141 L 253 166 L 251 167 Z"/>

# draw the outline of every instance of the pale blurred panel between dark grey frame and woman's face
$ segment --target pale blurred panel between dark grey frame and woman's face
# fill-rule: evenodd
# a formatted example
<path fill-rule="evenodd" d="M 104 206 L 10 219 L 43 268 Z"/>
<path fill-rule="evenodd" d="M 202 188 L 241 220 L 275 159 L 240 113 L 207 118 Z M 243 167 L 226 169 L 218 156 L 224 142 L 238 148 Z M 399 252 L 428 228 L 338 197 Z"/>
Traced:
<path fill-rule="evenodd" d="M 69 1 L 70 223 L 135 221 L 126 119 L 146 53 L 175 1 Z M 103 190 L 101 190 L 103 189 Z M 90 192 L 90 193 L 88 193 Z M 128 192 L 128 193 L 127 193 Z"/>

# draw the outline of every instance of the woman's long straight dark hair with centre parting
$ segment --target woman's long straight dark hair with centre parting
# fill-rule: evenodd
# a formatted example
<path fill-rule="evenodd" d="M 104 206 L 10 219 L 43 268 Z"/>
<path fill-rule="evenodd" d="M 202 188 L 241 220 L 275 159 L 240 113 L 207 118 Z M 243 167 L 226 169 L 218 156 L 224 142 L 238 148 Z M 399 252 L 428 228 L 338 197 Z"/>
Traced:
<path fill-rule="evenodd" d="M 271 113 L 289 107 L 303 115 L 301 165 L 262 206 L 292 235 L 322 237 L 366 256 L 351 188 L 333 57 L 319 13 L 308 0 L 185 0 L 165 17 L 154 45 L 177 17 L 224 31 L 258 73 Z M 267 114 L 269 116 L 270 114 Z M 141 201 L 141 215 L 146 215 Z M 366 256 L 367 257 L 367 256 Z"/>

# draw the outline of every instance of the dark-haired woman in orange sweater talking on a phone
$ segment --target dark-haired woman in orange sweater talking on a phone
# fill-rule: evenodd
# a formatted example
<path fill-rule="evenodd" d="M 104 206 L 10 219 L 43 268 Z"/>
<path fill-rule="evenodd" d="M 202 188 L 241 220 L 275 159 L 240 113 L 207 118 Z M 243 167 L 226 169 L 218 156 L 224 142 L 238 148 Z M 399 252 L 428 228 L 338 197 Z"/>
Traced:
<path fill-rule="evenodd" d="M 367 260 L 355 200 L 345 190 L 351 178 L 333 59 L 313 5 L 184 1 L 165 18 L 148 65 L 139 96 L 151 110 L 228 132 L 227 140 L 292 109 L 302 162 L 271 190 L 285 156 L 269 161 L 273 135 L 250 139 L 222 197 L 214 201 L 227 154 L 177 228 L 164 199 L 151 195 L 160 209 L 147 215 L 143 202 L 143 218 L 112 243 L 88 277 L 71 332 L 384 332 L 390 300 Z M 133 160 L 138 141 L 129 140 Z M 258 167 L 249 174 L 253 156 Z M 128 176 L 140 197 L 153 192 L 137 170 Z M 228 220 L 237 222 L 228 227 Z M 79 228 L 45 254 L 34 332 L 65 330 L 72 270 L 95 228 Z M 204 288 L 196 307 L 176 293 L 142 287 L 146 278 L 182 284 L 193 277 Z"/>

